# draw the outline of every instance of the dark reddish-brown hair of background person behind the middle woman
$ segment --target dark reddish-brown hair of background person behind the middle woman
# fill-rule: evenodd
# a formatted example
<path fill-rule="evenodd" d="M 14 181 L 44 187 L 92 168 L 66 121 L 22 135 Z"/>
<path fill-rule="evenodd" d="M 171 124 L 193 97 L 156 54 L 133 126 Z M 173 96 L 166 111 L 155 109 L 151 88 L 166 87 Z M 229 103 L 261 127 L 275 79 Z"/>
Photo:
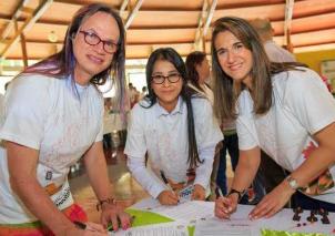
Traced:
<path fill-rule="evenodd" d="M 196 71 L 196 65 L 201 64 L 205 59 L 206 59 L 206 54 L 204 52 L 194 51 L 186 57 L 186 62 L 185 62 L 186 72 L 191 84 L 202 92 L 204 91 L 199 84 L 199 73 Z"/>

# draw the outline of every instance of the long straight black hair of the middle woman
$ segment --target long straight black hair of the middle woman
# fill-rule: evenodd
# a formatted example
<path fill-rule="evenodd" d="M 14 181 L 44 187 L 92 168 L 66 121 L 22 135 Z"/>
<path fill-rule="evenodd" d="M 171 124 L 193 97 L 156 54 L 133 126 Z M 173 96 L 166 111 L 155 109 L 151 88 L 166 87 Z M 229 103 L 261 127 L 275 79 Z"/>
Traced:
<path fill-rule="evenodd" d="M 149 94 L 146 95 L 146 101 L 149 101 L 149 106 L 143 107 L 151 107 L 158 102 L 158 96 L 153 92 L 152 89 L 152 72 L 154 63 L 159 60 L 169 61 L 174 65 L 174 68 L 177 70 L 177 72 L 181 74 L 182 79 L 182 91 L 180 93 L 180 96 L 183 99 L 183 101 L 186 103 L 187 107 L 187 136 L 189 136 L 189 158 L 187 163 L 190 164 L 190 168 L 196 167 L 199 163 L 202 163 L 199 158 L 197 153 L 197 145 L 196 145 L 196 138 L 195 138 L 195 130 L 194 130 L 194 116 L 193 116 L 193 109 L 191 99 L 196 94 L 196 91 L 192 90 L 186 85 L 187 83 L 187 74 L 186 74 L 186 68 L 185 63 L 183 62 L 183 59 L 180 57 L 180 54 L 172 48 L 162 48 L 153 51 L 151 55 L 149 57 L 145 73 L 146 73 L 146 84 L 148 84 L 148 91 Z"/>

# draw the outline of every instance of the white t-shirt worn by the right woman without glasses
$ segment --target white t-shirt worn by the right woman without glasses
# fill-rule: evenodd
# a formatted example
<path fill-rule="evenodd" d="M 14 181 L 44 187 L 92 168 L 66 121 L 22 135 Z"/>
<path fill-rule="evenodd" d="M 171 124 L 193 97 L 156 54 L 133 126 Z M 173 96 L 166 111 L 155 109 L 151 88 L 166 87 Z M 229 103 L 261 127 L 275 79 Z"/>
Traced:
<path fill-rule="evenodd" d="M 255 115 L 248 91 L 238 98 L 237 134 L 241 150 L 260 146 L 282 167 L 294 171 L 317 146 L 312 135 L 335 122 L 335 100 L 312 70 L 282 72 L 273 76 L 273 106 Z M 317 199 L 335 203 L 335 166 L 328 173 L 329 187 L 318 189 Z M 323 179 L 324 181 L 324 179 Z M 323 188 L 323 183 L 318 187 Z M 315 187 L 315 186 L 314 186 Z M 314 191 L 308 189 L 313 195 Z"/>

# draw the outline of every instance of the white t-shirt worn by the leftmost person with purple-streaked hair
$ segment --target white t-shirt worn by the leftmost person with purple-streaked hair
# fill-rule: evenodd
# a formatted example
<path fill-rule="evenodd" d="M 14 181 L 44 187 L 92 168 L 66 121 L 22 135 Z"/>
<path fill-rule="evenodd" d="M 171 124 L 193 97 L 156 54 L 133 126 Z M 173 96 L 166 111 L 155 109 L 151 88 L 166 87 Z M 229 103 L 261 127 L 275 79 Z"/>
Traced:
<path fill-rule="evenodd" d="M 60 208 L 73 203 L 69 167 L 102 140 L 103 99 L 93 86 L 70 79 L 21 75 L 11 82 L 1 115 L 0 138 L 39 151 L 37 178 L 61 188 L 51 199 Z M 0 224 L 35 220 L 9 184 L 7 151 L 0 150 Z"/>

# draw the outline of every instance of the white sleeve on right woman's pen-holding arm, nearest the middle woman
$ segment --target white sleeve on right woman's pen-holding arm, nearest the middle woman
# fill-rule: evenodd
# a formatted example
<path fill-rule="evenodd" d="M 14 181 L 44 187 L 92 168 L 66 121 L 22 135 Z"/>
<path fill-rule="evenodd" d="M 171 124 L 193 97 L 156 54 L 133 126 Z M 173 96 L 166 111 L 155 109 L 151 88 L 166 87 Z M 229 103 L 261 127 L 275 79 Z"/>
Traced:
<path fill-rule="evenodd" d="M 251 150 L 258 145 L 256 129 L 253 117 L 253 103 L 247 92 L 242 92 L 237 103 L 236 131 L 238 148 Z"/>

